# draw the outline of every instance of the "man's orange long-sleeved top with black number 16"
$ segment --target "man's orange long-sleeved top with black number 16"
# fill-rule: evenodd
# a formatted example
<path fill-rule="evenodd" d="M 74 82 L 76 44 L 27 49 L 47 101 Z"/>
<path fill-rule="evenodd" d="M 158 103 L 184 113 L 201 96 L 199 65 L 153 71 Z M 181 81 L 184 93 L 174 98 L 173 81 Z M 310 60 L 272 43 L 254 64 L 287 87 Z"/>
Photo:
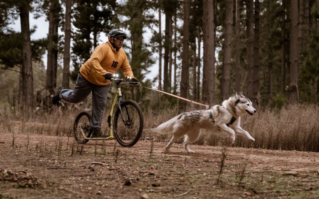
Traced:
<path fill-rule="evenodd" d="M 111 81 L 104 79 L 103 75 L 107 72 L 114 74 L 119 68 L 125 77 L 134 77 L 125 52 L 121 48 L 116 52 L 112 44 L 107 41 L 96 46 L 90 59 L 80 68 L 80 73 L 93 84 L 106 85 Z"/>

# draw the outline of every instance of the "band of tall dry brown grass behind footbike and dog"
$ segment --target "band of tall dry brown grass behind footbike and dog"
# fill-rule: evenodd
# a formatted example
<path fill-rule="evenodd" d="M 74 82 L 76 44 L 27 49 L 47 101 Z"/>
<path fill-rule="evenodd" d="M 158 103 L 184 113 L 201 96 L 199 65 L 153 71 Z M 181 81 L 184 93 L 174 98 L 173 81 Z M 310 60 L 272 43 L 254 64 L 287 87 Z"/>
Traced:
<path fill-rule="evenodd" d="M 197 107 L 197 109 L 199 108 Z M 196 108 L 192 110 L 196 110 Z M 4 132 L 11 134 L 15 132 L 26 135 L 72 136 L 74 119 L 81 111 L 80 109 L 56 108 L 50 112 L 33 114 L 30 118 L 8 112 L 4 115 L 2 112 L 0 126 L 3 127 Z M 169 139 L 169 135 L 158 135 L 148 129 L 167 121 L 180 112 L 177 106 L 161 111 L 145 111 L 144 131 L 141 139 L 146 137 L 154 138 L 156 141 Z M 106 110 L 102 128 L 108 128 L 107 116 L 108 110 Z M 317 125 L 317 121 L 319 121 L 319 106 L 296 105 L 281 110 L 258 110 L 254 116 L 242 117 L 241 126 L 256 139 L 253 143 L 255 148 L 319 152 L 319 125 Z M 222 137 L 223 135 L 214 135 L 209 131 L 203 131 L 201 137 L 194 144 L 218 146 Z M 182 140 L 177 142 L 182 142 Z M 237 136 L 234 143 L 234 146 L 241 147 L 250 147 L 251 145 L 249 140 L 242 136 Z M 74 144 L 70 144 L 70 146 L 75 147 Z"/>

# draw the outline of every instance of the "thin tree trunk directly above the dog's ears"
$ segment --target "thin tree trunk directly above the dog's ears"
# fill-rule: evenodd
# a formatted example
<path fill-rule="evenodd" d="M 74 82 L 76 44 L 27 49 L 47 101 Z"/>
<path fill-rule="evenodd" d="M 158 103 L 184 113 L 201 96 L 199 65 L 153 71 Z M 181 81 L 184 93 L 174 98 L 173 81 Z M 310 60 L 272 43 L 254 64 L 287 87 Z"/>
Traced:
<path fill-rule="evenodd" d="M 240 92 L 240 1 L 236 0 L 236 21 L 235 21 L 235 91 Z"/>

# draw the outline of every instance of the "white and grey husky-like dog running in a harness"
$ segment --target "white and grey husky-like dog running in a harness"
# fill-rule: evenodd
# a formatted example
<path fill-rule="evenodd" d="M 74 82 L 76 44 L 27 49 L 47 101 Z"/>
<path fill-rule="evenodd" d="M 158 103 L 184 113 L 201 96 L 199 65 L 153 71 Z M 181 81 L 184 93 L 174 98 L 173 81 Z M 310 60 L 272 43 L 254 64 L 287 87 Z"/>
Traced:
<path fill-rule="evenodd" d="M 249 132 L 240 127 L 241 116 L 245 114 L 254 115 L 256 109 L 252 106 L 251 101 L 242 93 L 231 96 L 224 100 L 222 106 L 215 105 L 207 110 L 194 110 L 182 113 L 163 124 L 160 124 L 152 130 L 160 134 L 173 134 L 172 139 L 164 149 L 168 149 L 176 140 L 184 136 L 184 148 L 187 153 L 195 153 L 189 149 L 189 144 L 195 142 L 202 129 L 212 131 L 212 133 L 227 132 L 231 138 L 231 145 L 235 141 L 235 133 L 246 136 L 250 141 L 255 139 L 250 136 Z"/>

